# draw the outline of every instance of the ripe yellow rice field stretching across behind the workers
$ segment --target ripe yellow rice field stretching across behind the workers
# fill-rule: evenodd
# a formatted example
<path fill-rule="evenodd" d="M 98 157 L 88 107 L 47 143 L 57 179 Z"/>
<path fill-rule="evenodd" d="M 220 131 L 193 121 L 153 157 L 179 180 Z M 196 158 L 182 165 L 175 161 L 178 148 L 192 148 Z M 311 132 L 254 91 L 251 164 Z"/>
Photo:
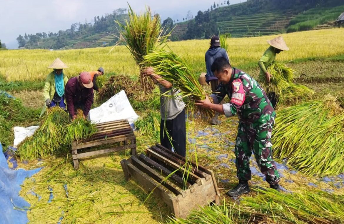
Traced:
<path fill-rule="evenodd" d="M 314 30 L 282 34 L 290 51 L 278 55 L 279 61 L 302 58 L 331 57 L 344 54 L 342 29 Z M 268 47 L 266 40 L 276 37 L 230 38 L 229 57 L 234 67 L 248 67 L 258 62 Z M 187 58 L 196 73 L 205 70 L 204 54 L 209 40 L 170 42 L 169 47 Z M 0 51 L 0 75 L 7 81 L 42 81 L 51 70 L 46 67 L 60 58 L 69 68 L 68 77 L 82 71 L 103 67 L 106 73 L 136 75 L 138 67 L 125 46 L 90 48 L 78 50 L 8 50 Z"/>

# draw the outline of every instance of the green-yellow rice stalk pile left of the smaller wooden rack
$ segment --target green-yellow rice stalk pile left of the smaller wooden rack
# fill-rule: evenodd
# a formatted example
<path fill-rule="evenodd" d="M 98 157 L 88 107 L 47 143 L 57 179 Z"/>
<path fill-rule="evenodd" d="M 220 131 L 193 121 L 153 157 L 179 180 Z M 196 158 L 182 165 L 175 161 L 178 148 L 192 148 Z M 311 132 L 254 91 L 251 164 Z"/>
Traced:
<path fill-rule="evenodd" d="M 82 114 L 69 124 L 68 114 L 55 106 L 47 110 L 35 133 L 18 145 L 17 154 L 21 160 L 33 160 L 67 153 L 72 141 L 88 138 L 95 132 L 94 126 Z"/>

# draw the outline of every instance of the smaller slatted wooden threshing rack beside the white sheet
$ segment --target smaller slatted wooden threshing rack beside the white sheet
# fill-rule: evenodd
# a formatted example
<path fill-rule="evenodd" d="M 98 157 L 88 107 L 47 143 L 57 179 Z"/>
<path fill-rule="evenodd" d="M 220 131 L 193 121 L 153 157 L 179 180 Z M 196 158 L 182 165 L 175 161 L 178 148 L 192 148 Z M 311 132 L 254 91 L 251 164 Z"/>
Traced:
<path fill-rule="evenodd" d="M 136 155 L 135 134 L 127 120 L 100 123 L 96 125 L 96 128 L 98 130 L 97 133 L 89 139 L 74 141 L 72 143 L 72 156 L 75 170 L 79 169 L 79 159 L 88 156 L 126 149 L 131 149 L 131 154 Z M 118 144 L 121 142 L 123 145 Z M 102 149 L 97 149 L 99 147 L 102 147 Z"/>

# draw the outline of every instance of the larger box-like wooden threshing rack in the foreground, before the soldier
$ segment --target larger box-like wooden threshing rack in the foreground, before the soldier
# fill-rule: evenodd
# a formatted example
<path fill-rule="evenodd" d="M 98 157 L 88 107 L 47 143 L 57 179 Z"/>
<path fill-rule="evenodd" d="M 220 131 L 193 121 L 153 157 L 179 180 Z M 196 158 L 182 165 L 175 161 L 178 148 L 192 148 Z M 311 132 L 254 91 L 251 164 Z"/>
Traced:
<path fill-rule="evenodd" d="M 185 157 L 156 144 L 147 149 L 147 154 L 131 156 L 122 160 L 121 166 L 128 181 L 135 179 L 144 190 L 151 192 L 171 207 L 175 217 L 185 218 L 190 210 L 209 203 L 219 203 L 219 190 L 214 173 L 192 163 L 192 172 L 184 183 Z M 177 171 L 176 171 L 177 170 Z M 172 172 L 176 171 L 171 175 Z M 170 177 L 166 180 L 166 176 Z"/>

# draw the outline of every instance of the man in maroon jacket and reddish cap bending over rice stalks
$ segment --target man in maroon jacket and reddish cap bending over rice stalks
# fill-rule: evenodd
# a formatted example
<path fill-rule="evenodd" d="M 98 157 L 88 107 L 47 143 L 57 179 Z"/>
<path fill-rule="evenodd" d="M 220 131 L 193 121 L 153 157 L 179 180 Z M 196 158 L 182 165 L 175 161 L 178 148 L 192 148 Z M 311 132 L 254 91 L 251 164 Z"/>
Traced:
<path fill-rule="evenodd" d="M 93 102 L 93 82 L 88 72 L 68 80 L 65 86 L 67 110 L 71 119 L 76 118 L 76 110 L 81 109 L 89 119 L 89 110 Z"/>

